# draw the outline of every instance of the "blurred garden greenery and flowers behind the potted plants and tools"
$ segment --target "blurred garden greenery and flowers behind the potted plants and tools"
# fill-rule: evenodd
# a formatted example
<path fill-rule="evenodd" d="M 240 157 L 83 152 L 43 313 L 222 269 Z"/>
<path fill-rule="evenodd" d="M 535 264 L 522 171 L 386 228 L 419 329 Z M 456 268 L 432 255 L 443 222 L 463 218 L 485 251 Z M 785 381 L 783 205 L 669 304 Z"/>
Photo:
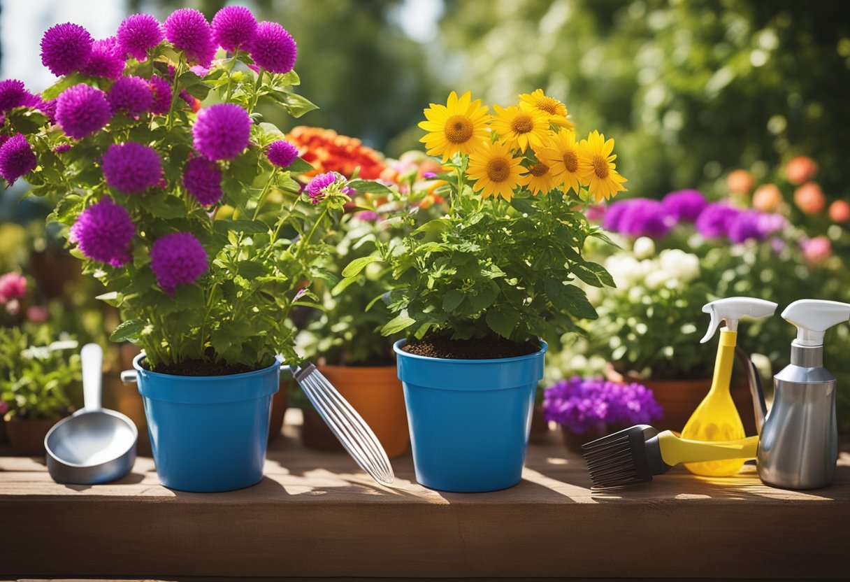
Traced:
<path fill-rule="evenodd" d="M 225 4 L 3 0 L 0 77 L 34 92 L 53 83 L 37 42 L 59 22 L 78 22 L 100 38 L 127 14 L 162 20 L 191 7 L 212 19 Z M 612 368 L 639 379 L 710 377 L 714 348 L 699 344 L 707 325 L 700 309 L 717 297 L 774 300 L 779 311 L 803 298 L 850 301 L 850 5 L 843 0 L 240 4 L 292 33 L 300 91 L 320 107 L 292 119 L 269 106 L 263 116 L 284 131 L 331 128 L 395 160 L 422 150 L 422 110 L 451 90 L 507 106 L 541 88 L 564 102 L 580 136 L 589 128 L 616 136 L 628 191 L 596 215 L 619 248 L 600 243 L 588 252 L 618 288 L 591 294 L 600 317 L 584 326 L 586 337 L 566 337 L 553 350 L 550 383 Z M 94 304 L 95 284 L 78 266 L 60 271 L 62 245 L 44 226 L 50 208 L 37 198 L 21 202 L 26 189 L 20 180 L 2 192 L 0 275 L 38 277 L 27 301 L 46 311 L 3 317 L 50 317 L 58 330 L 105 342 L 116 314 Z M 793 328 L 774 317 L 746 324 L 742 335 L 769 381 L 788 361 Z M 825 365 L 840 379 L 844 431 L 848 349 L 847 325 L 827 334 Z"/>

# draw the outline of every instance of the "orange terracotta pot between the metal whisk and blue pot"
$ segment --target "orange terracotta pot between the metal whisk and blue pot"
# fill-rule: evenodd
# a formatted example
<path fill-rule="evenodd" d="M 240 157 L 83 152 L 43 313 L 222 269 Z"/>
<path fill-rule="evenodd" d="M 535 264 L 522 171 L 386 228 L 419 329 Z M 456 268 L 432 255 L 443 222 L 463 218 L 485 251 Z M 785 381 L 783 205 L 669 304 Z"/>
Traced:
<path fill-rule="evenodd" d="M 392 459 L 410 443 L 405 392 L 395 366 L 326 366 L 319 371 L 360 413 Z"/>

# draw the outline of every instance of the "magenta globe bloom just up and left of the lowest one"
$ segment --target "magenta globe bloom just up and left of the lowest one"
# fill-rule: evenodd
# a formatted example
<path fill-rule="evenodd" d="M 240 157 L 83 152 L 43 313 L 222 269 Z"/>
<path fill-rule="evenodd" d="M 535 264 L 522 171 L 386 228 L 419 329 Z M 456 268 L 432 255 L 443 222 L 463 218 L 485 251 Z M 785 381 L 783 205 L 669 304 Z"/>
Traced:
<path fill-rule="evenodd" d="M 105 197 L 80 213 L 70 238 L 89 259 L 118 267 L 130 262 L 130 242 L 135 236 L 127 210 Z"/>

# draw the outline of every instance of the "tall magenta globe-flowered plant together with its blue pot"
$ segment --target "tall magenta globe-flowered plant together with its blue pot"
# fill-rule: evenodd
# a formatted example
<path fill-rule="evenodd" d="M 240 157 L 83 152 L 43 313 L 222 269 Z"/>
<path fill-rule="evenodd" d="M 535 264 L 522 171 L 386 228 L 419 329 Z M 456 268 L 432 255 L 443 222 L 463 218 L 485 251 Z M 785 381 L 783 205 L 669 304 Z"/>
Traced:
<path fill-rule="evenodd" d="M 68 23 L 42 38 L 59 82 L 6 112 L 4 177 L 57 200 L 71 253 L 121 310 L 111 339 L 143 350 L 133 368 L 167 487 L 262 478 L 278 356 L 296 360 L 287 314 L 310 299 L 348 201 L 339 174 L 302 192 L 292 177 L 309 164 L 257 111 L 314 108 L 293 92 L 296 54 L 282 26 L 234 6 L 212 25 L 194 9 L 134 14 L 96 42 Z"/>

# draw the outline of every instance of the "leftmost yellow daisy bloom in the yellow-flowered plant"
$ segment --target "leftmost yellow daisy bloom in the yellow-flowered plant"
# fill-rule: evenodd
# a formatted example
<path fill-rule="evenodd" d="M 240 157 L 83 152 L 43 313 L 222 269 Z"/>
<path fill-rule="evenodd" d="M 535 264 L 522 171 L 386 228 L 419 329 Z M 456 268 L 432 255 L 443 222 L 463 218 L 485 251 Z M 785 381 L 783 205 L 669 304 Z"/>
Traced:
<path fill-rule="evenodd" d="M 419 127 L 428 132 L 421 140 L 429 156 L 442 156 L 445 162 L 456 153 L 470 153 L 489 137 L 490 115 L 481 100 L 472 100 L 469 91 L 460 97 L 452 91 L 444 105 L 432 103 L 424 111 L 426 121 Z"/>

